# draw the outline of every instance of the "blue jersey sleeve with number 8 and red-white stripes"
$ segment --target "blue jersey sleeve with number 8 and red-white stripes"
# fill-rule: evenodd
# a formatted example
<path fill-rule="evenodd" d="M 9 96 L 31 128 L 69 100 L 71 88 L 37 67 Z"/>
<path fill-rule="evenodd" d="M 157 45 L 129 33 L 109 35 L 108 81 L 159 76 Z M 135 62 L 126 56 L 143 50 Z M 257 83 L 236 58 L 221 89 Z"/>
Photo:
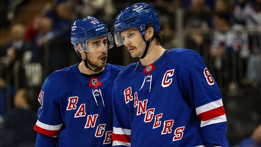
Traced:
<path fill-rule="evenodd" d="M 206 147 L 227 147 L 227 118 L 221 92 L 200 55 L 195 55 L 191 60 L 187 77 L 190 79 L 187 82 L 187 93 L 195 105 Z"/>

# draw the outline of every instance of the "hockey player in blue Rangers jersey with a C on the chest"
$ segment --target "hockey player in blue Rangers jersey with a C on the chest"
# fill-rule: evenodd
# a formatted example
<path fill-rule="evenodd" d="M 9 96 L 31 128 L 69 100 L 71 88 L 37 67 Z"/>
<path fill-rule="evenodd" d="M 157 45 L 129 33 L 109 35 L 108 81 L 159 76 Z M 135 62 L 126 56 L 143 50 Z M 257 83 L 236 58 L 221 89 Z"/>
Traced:
<path fill-rule="evenodd" d="M 140 58 L 114 81 L 114 147 L 228 147 L 216 81 L 195 51 L 161 46 L 162 31 L 151 6 L 137 3 L 122 10 L 114 40 Z"/>

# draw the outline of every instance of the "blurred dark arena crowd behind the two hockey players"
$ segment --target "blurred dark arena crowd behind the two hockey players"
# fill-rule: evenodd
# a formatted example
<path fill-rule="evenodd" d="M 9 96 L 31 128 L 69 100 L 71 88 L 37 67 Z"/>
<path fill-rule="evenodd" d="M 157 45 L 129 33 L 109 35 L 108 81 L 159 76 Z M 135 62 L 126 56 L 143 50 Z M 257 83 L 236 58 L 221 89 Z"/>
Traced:
<path fill-rule="evenodd" d="M 17 22 L 22 7 L 31 2 L 1 1 L 0 27 L 10 28 L 10 35 L 8 39 L 0 36 L 7 40 L 0 41 L 0 137 L 8 130 L 13 137 L 23 134 L 5 125 L 13 110 L 26 109 L 37 119 L 43 80 L 55 70 L 80 62 L 70 43 L 75 20 L 94 16 L 113 32 L 120 10 L 138 2 L 148 3 L 158 12 L 165 49 L 189 48 L 205 60 L 223 94 L 231 146 L 251 136 L 261 123 L 261 0 L 40 0 L 35 8 L 39 13 L 30 14 L 33 17 L 26 24 Z M 138 61 L 124 47 L 115 46 L 108 54 L 107 62 L 112 64 L 126 66 Z M 15 97 L 20 90 L 26 92 L 26 104 L 17 107 Z M 18 126 L 34 131 L 28 124 L 29 120 L 36 122 L 35 117 L 28 112 L 19 121 L 24 120 Z M 11 142 L 15 141 L 6 144 Z"/>

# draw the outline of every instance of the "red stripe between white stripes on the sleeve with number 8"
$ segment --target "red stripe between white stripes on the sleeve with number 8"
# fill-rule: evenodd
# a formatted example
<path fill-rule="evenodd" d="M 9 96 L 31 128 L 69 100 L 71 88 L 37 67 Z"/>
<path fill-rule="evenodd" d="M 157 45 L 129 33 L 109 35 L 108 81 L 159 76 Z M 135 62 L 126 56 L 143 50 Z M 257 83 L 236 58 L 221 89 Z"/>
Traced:
<path fill-rule="evenodd" d="M 202 113 L 198 114 L 197 117 L 200 121 L 207 121 L 207 120 L 222 116 L 224 114 L 226 114 L 224 106 L 221 106 L 221 107 L 211 109 L 206 112 L 202 112 Z"/>

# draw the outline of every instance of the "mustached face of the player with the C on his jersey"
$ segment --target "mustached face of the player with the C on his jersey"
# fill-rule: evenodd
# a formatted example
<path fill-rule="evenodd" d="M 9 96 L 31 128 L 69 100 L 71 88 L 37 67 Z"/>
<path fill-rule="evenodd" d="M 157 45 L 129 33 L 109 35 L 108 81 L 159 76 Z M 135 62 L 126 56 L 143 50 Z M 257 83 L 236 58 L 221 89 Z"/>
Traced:
<path fill-rule="evenodd" d="M 131 57 L 141 57 L 146 47 L 142 35 L 138 28 L 134 27 L 121 32 L 121 36 L 124 38 L 124 45 L 127 47 L 127 51 L 130 52 Z"/>

